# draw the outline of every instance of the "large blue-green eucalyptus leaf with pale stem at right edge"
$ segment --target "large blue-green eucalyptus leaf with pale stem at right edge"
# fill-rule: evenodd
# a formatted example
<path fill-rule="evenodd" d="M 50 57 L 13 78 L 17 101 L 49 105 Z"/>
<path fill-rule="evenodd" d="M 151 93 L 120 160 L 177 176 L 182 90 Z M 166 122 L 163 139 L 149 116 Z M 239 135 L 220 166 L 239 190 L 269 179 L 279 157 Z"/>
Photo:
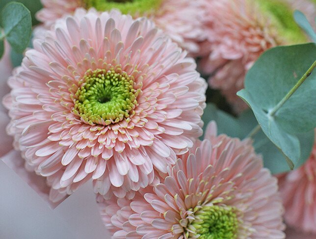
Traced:
<path fill-rule="evenodd" d="M 285 155 L 290 168 L 298 164 L 301 155 L 296 135 L 316 127 L 316 72 L 284 104 L 280 102 L 311 67 L 315 56 L 314 43 L 271 48 L 247 73 L 245 89 L 237 92 L 253 110 L 264 134 Z"/>

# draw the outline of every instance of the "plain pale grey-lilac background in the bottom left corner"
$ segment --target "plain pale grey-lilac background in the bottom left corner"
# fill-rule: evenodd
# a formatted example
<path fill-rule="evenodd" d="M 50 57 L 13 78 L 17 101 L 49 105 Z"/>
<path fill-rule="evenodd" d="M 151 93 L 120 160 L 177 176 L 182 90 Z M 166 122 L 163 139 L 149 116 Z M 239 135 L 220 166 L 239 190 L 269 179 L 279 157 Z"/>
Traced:
<path fill-rule="evenodd" d="M 110 239 L 89 181 L 52 210 L 0 160 L 0 239 Z"/>

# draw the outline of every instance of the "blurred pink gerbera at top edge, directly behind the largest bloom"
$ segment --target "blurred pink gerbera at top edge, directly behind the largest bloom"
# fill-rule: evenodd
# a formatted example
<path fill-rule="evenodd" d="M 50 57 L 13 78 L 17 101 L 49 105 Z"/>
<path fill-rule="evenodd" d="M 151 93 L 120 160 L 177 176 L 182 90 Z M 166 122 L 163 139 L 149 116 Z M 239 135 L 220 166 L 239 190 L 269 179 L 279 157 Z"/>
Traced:
<path fill-rule="evenodd" d="M 206 0 L 41 0 L 44 8 L 37 18 L 46 25 L 65 14 L 73 14 L 77 7 L 94 7 L 99 11 L 112 8 L 133 17 L 146 16 L 190 53 L 198 53 L 198 41 L 205 40 L 202 20 Z"/>

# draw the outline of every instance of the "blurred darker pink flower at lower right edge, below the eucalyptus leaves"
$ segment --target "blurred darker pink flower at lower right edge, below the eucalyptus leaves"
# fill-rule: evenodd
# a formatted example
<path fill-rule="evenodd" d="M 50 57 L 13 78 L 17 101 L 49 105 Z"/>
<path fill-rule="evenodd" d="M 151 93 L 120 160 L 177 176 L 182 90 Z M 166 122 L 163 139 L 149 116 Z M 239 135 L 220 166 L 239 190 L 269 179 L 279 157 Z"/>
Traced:
<path fill-rule="evenodd" d="M 286 222 L 316 234 L 316 143 L 303 166 L 279 176 L 279 186 Z"/>

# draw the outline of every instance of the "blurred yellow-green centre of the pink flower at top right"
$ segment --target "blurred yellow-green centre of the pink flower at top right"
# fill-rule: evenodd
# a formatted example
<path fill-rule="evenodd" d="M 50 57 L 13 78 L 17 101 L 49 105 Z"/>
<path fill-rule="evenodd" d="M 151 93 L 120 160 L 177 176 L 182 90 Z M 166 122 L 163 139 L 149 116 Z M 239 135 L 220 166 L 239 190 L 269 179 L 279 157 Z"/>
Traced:
<path fill-rule="evenodd" d="M 306 42 L 306 36 L 293 18 L 294 9 L 281 0 L 256 0 L 261 11 L 277 28 L 278 34 L 287 43 L 296 44 Z"/>

